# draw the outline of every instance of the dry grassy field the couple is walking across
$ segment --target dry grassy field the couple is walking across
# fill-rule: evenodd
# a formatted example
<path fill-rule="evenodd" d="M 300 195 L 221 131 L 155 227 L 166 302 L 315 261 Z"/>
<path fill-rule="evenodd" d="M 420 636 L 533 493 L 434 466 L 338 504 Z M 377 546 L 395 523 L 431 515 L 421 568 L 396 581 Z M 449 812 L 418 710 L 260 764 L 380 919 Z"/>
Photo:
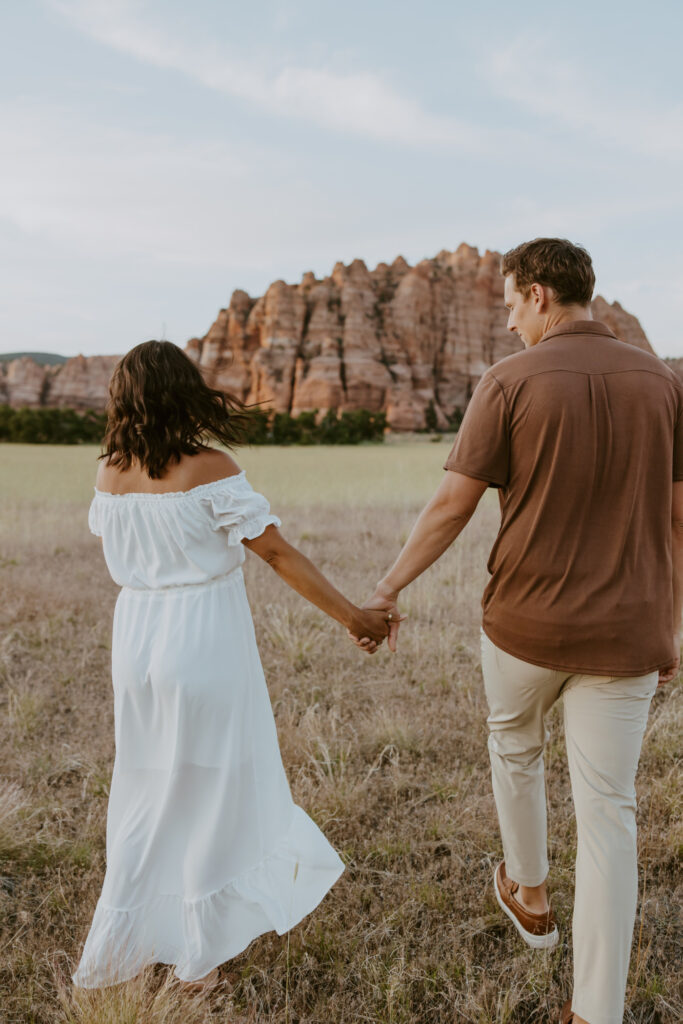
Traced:
<path fill-rule="evenodd" d="M 390 564 L 449 445 L 239 454 L 298 544 L 353 600 Z M 86 515 L 95 450 L 0 445 L 0 1021 L 35 1024 L 546 1024 L 570 990 L 574 824 L 559 709 L 547 749 L 561 928 L 528 950 L 499 911 L 478 657 L 495 498 L 405 591 L 396 655 L 343 631 L 248 555 L 247 586 L 295 799 L 347 870 L 288 937 L 266 935 L 188 999 L 164 968 L 74 997 L 104 868 L 116 588 Z M 350 510 L 353 510 L 352 513 Z M 655 696 L 638 781 L 641 901 L 628 1024 L 680 989 L 681 687 Z M 678 887 L 678 889 L 677 889 Z"/>

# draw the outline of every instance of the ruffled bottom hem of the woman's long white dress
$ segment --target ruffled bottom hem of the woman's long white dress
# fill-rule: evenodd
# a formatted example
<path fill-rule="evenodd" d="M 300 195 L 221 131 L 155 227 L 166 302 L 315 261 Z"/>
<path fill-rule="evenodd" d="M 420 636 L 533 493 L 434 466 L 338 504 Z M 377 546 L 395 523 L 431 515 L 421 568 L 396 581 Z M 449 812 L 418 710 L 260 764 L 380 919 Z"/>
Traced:
<path fill-rule="evenodd" d="M 80 988 L 130 981 L 152 964 L 198 981 L 265 932 L 284 935 L 313 910 L 344 864 L 311 818 L 294 808 L 289 831 L 256 865 L 216 892 L 153 897 L 128 909 L 97 903 L 81 963 Z"/>

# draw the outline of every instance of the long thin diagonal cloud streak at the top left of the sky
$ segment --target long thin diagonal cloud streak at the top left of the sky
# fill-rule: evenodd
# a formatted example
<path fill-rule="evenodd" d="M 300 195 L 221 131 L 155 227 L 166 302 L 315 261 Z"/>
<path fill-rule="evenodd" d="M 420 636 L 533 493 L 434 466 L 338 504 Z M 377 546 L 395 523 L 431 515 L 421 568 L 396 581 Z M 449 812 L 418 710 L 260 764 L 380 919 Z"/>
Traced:
<path fill-rule="evenodd" d="M 144 20 L 130 0 L 51 0 L 78 31 L 156 68 L 180 72 L 209 89 L 242 98 L 281 117 L 328 130 L 405 145 L 445 145 L 485 152 L 496 144 L 483 127 L 433 114 L 380 75 L 330 68 L 259 67 L 225 47 L 189 42 Z"/>

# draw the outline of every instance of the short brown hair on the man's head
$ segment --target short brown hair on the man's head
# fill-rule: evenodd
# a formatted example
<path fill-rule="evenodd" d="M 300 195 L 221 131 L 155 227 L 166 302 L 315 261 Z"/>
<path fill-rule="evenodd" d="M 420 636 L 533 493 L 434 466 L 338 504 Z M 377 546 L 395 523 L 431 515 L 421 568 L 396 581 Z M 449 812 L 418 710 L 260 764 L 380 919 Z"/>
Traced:
<path fill-rule="evenodd" d="M 555 292 L 562 306 L 587 306 L 593 297 L 595 273 L 583 246 L 566 239 L 533 239 L 510 249 L 501 260 L 501 273 L 514 274 L 515 288 L 527 298 L 531 285 Z"/>

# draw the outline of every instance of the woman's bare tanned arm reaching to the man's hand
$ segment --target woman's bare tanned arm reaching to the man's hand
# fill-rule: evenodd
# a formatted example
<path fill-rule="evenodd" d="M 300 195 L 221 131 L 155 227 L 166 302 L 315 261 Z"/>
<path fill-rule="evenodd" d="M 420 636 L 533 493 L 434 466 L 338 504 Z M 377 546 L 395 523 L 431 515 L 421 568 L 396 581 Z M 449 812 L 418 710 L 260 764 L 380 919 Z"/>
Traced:
<path fill-rule="evenodd" d="M 243 541 L 245 547 L 267 562 L 288 586 L 336 618 L 357 637 L 370 637 L 381 643 L 388 635 L 386 611 L 357 608 L 323 575 L 310 559 L 289 544 L 276 526 L 266 526 L 253 541 Z"/>

